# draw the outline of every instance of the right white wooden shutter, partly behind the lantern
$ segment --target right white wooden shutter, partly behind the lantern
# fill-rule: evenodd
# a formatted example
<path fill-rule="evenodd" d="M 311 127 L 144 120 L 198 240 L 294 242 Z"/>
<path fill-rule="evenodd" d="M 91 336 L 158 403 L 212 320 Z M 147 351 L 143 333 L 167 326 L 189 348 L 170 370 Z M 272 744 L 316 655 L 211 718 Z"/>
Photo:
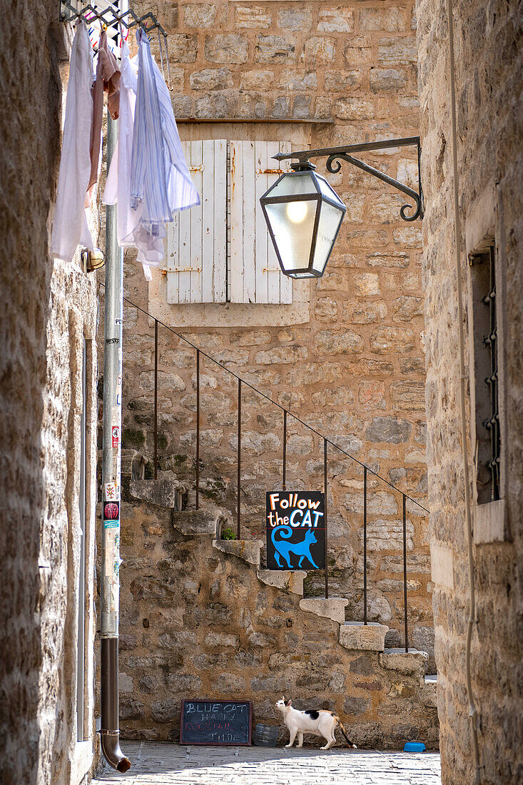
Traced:
<path fill-rule="evenodd" d="M 272 160 L 277 152 L 291 152 L 291 144 L 231 142 L 229 254 L 232 302 L 292 302 L 292 282 L 280 271 L 260 205 L 260 196 L 276 182 L 280 173 L 287 171 L 286 163 Z"/>

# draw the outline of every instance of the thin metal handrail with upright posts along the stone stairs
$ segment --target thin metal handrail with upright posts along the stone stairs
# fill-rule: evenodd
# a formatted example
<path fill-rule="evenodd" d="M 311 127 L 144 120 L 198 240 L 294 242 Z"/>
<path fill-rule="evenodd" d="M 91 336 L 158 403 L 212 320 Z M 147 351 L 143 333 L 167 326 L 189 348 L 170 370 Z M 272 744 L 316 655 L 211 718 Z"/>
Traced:
<path fill-rule="evenodd" d="M 102 283 L 101 286 L 104 286 Z M 166 323 L 162 322 L 160 319 L 157 319 L 152 313 L 149 313 L 145 309 L 141 308 L 140 305 L 137 305 L 135 302 L 130 300 L 129 298 L 124 297 L 123 300 L 128 304 L 132 305 L 133 308 L 137 309 L 144 314 L 144 316 L 148 316 L 150 319 L 154 320 L 155 323 L 155 364 L 154 364 L 154 476 L 157 477 L 157 469 L 158 469 L 158 325 L 161 324 L 162 327 L 165 327 L 166 330 L 169 330 L 171 333 L 177 336 L 177 338 L 181 338 L 182 341 L 185 341 L 187 345 L 189 345 L 192 349 L 196 350 L 196 509 L 199 509 L 199 420 L 200 420 L 200 403 L 199 403 L 199 378 L 200 378 L 200 356 L 206 357 L 207 360 L 210 360 L 215 365 L 218 365 L 223 371 L 227 371 L 228 374 L 231 374 L 232 377 L 236 378 L 238 382 L 238 444 L 237 444 L 237 488 L 236 488 L 236 535 L 238 539 L 240 539 L 240 531 L 241 531 L 241 506 L 240 506 L 240 491 L 241 491 L 241 408 L 242 408 L 242 385 L 247 385 L 247 387 L 253 392 L 256 392 L 265 400 L 268 400 L 269 403 L 272 403 L 274 406 L 279 408 L 283 411 L 283 466 L 282 466 L 282 475 L 283 475 L 283 490 L 286 487 L 286 471 L 287 471 L 287 415 L 291 415 L 297 422 L 305 425 L 305 428 L 309 429 L 313 433 L 316 433 L 316 436 L 320 437 L 320 440 L 323 440 L 324 443 L 324 494 L 325 494 L 325 520 L 327 518 L 327 446 L 330 444 L 331 447 L 335 447 L 336 450 L 340 451 L 343 455 L 346 455 L 347 458 L 353 460 L 353 462 L 357 463 L 358 466 L 361 466 L 364 470 L 364 625 L 368 624 L 368 586 L 367 586 L 367 572 L 368 572 L 368 554 L 367 554 L 367 516 L 368 516 L 368 473 L 370 472 L 379 480 L 382 480 L 383 483 L 388 485 L 396 491 L 402 497 L 402 518 L 403 518 L 403 593 L 404 593 L 404 637 L 405 637 L 405 652 L 408 652 L 408 604 L 407 604 L 407 500 L 409 502 L 413 502 L 417 505 L 420 509 L 422 509 L 425 513 L 430 513 L 429 509 L 426 509 L 420 502 L 416 501 L 415 498 L 412 498 L 408 494 L 404 493 L 404 491 L 400 491 L 395 485 L 386 480 L 385 477 L 381 476 L 379 473 L 375 472 L 374 469 L 371 469 L 370 466 L 367 464 L 359 461 L 349 452 L 344 450 L 338 444 L 331 441 L 327 436 L 320 431 L 317 431 L 313 428 L 312 425 L 309 425 L 307 422 L 302 420 L 302 418 L 298 417 L 297 414 L 294 414 L 289 409 L 283 407 L 280 403 L 277 403 L 275 400 L 262 392 L 261 390 L 251 385 L 250 382 L 247 382 L 241 376 L 236 374 L 234 371 L 231 371 L 230 368 L 225 367 L 223 363 L 219 360 L 215 360 L 213 356 L 207 354 L 207 352 L 200 349 L 199 346 L 193 344 L 192 341 L 189 341 L 188 338 L 185 338 L 185 335 L 178 333 L 177 330 L 174 330 L 172 327 L 169 327 Z M 327 531 L 325 532 L 325 597 L 328 597 L 328 568 L 327 568 Z"/>

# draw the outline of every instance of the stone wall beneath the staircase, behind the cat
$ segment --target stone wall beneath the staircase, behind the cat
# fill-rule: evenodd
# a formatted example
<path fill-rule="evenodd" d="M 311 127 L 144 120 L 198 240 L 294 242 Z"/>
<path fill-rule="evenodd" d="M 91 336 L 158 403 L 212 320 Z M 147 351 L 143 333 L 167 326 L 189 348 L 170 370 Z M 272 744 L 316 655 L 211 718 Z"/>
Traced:
<path fill-rule="evenodd" d="M 214 511 L 198 519 L 207 533 L 194 535 L 192 513 L 137 501 L 129 476 L 122 492 L 124 738 L 177 742 L 181 700 L 193 698 L 251 700 L 254 724 L 279 725 L 274 704 L 284 694 L 302 710 L 335 710 L 358 747 L 393 749 L 422 739 L 437 748 L 426 653 L 345 648 L 327 611 L 318 616 L 300 606 L 303 573 L 280 573 L 278 588 L 273 572 L 249 563 L 258 553 L 254 542 L 238 551 L 243 557 L 213 546 L 207 520 L 212 524 Z M 305 743 L 311 741 L 318 739 Z"/>

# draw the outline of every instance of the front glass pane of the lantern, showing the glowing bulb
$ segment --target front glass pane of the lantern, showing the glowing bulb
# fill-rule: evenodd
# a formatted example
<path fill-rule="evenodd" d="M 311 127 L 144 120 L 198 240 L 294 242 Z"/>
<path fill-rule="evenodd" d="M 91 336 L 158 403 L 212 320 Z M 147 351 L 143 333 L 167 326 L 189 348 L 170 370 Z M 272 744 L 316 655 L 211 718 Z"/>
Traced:
<path fill-rule="evenodd" d="M 292 272 L 309 266 L 316 199 L 265 205 L 283 268 Z"/>

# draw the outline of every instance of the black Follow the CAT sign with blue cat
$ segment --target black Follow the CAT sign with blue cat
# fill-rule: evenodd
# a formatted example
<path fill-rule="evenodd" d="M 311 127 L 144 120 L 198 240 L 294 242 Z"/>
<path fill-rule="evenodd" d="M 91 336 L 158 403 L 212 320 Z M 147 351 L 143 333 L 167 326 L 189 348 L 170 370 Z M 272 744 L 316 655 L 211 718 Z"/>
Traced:
<path fill-rule="evenodd" d="M 269 491 L 267 569 L 324 569 L 326 525 L 323 493 Z"/>

